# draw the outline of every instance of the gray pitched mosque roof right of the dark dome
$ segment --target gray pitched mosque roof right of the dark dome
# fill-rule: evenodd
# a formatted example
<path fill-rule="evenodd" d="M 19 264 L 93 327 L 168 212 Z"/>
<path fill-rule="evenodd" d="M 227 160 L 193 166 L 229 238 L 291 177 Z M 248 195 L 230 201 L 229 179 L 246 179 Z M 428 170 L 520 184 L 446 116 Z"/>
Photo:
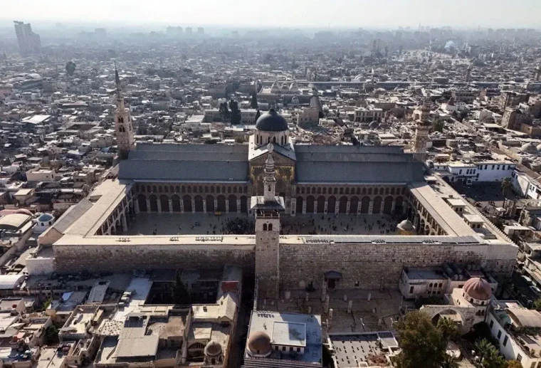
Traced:
<path fill-rule="evenodd" d="M 423 165 L 401 147 L 295 146 L 300 183 L 411 183 Z"/>

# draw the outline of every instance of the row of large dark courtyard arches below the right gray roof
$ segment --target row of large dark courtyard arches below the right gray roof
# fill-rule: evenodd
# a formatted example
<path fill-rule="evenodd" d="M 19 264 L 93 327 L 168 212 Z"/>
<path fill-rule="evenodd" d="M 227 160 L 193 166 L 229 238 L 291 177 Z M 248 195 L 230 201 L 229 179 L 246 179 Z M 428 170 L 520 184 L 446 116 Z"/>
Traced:
<path fill-rule="evenodd" d="M 396 199 L 392 196 L 387 196 L 385 199 L 381 196 L 375 197 L 372 202 L 372 212 L 370 212 L 370 200 L 369 196 L 362 197 L 360 201 L 357 196 L 353 196 L 351 199 L 348 199 L 347 196 L 341 196 L 340 199 L 335 196 L 330 196 L 328 199 L 325 199 L 325 196 L 319 196 L 317 199 L 314 196 L 308 196 L 306 199 L 298 196 L 295 203 L 295 212 L 297 214 L 400 214 L 404 209 L 404 198 L 402 196 L 398 196 Z M 348 201 L 350 204 L 349 209 L 347 206 Z"/>

